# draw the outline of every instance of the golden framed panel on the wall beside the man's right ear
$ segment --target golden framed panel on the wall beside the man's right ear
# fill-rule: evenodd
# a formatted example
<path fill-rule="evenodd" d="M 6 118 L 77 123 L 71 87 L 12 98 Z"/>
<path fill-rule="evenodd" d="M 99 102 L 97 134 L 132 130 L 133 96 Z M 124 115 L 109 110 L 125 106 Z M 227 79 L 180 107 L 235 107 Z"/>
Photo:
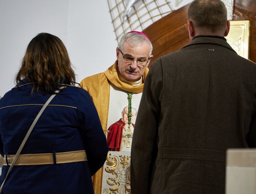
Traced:
<path fill-rule="evenodd" d="M 238 55 L 249 58 L 250 20 L 230 21 L 230 32 L 225 37 Z"/>

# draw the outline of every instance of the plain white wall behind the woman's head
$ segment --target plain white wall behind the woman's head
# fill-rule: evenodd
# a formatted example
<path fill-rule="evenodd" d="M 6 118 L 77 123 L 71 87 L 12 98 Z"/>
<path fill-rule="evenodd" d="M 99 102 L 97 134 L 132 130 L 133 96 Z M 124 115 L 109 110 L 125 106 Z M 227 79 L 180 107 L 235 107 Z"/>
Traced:
<path fill-rule="evenodd" d="M 29 41 L 40 32 L 59 37 L 77 82 L 116 60 L 117 41 L 107 0 L 0 0 L 0 96 L 9 91 Z"/>

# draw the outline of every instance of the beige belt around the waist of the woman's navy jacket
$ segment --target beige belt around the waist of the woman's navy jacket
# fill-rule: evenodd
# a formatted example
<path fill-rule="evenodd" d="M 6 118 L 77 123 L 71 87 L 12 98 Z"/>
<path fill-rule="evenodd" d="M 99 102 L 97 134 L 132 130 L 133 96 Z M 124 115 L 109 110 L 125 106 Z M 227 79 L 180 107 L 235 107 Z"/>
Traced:
<path fill-rule="evenodd" d="M 54 157 L 55 156 L 55 157 Z M 10 165 L 14 159 L 15 155 L 7 155 L 8 164 Z M 71 162 L 82 162 L 87 161 L 87 156 L 85 150 L 79 151 L 68 151 L 60 153 L 45 153 L 45 154 L 20 154 L 15 162 L 15 166 L 23 165 L 51 165 Z M 4 164 L 6 163 L 6 155 L 4 155 Z"/>

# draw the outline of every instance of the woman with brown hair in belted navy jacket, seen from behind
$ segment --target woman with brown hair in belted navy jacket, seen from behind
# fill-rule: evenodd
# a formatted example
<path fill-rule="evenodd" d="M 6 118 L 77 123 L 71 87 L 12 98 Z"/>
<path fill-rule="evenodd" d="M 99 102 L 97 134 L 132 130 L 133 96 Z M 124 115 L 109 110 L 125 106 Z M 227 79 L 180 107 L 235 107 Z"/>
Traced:
<path fill-rule="evenodd" d="M 106 137 L 90 95 L 75 87 L 58 37 L 40 33 L 28 44 L 16 87 L 0 100 L 0 136 L 3 194 L 93 193 L 91 176 L 106 160 Z"/>

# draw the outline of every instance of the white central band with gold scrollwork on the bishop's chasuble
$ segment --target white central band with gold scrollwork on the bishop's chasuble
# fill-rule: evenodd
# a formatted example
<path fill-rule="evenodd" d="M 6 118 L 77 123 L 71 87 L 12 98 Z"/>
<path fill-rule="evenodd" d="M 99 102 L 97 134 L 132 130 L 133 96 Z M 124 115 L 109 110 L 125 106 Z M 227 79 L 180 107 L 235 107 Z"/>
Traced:
<path fill-rule="evenodd" d="M 138 110 L 142 93 L 132 94 L 132 107 Z M 109 115 L 107 129 L 113 123 L 122 118 L 123 109 L 128 106 L 127 92 L 110 85 Z M 135 124 L 135 120 L 132 122 Z M 133 126 L 130 125 L 133 133 Z M 128 130 L 128 125 L 122 128 L 122 134 Z M 107 160 L 103 166 L 102 194 L 127 194 L 131 193 L 130 188 L 130 160 L 131 145 L 127 147 L 127 138 L 122 136 L 120 151 L 109 151 Z M 132 144 L 132 138 L 131 138 Z"/>

